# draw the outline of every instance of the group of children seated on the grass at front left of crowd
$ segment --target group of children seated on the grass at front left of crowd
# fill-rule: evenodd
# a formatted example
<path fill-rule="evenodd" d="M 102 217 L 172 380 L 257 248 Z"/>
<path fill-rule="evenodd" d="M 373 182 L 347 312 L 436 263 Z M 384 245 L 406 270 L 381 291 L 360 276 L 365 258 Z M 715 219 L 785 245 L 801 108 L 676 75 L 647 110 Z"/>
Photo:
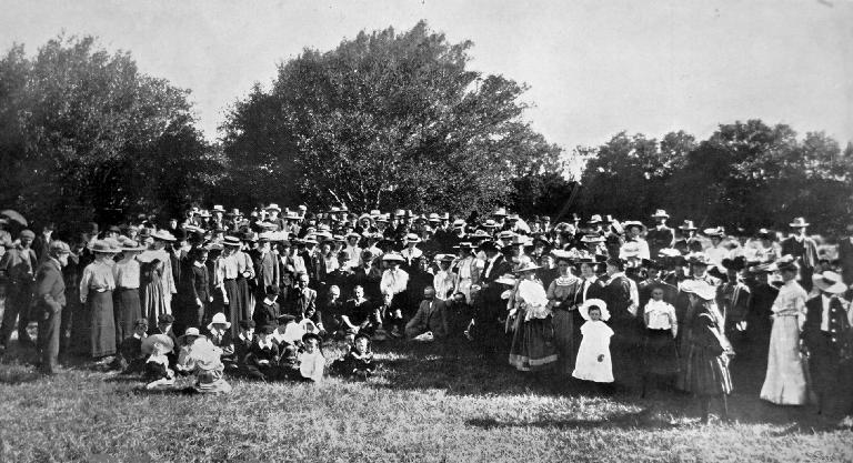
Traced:
<path fill-rule="evenodd" d="M 213 385 L 215 392 L 230 390 L 223 373 L 260 381 L 323 379 L 322 339 L 311 326 L 287 315 L 279 326 L 267 324 L 257 333 L 255 323 L 243 320 L 237 339 L 231 335 L 231 323 L 223 313 L 213 316 L 205 335 L 197 328 L 188 328 L 182 336 L 175 338 L 173 322 L 172 315 L 162 314 L 157 328 L 149 330 L 145 319 L 137 320 L 133 335 L 122 342 L 114 366 L 123 374 L 144 374 L 148 389 L 173 386 L 175 372 L 195 374 L 194 387 L 200 392 L 212 392 L 211 384 L 202 384 L 202 376 L 218 382 Z M 204 358 L 201 361 L 199 352 Z M 370 338 L 357 335 L 349 352 L 332 364 L 332 371 L 367 379 L 375 370 L 372 359 Z M 214 378 L 208 378 L 211 372 Z"/>

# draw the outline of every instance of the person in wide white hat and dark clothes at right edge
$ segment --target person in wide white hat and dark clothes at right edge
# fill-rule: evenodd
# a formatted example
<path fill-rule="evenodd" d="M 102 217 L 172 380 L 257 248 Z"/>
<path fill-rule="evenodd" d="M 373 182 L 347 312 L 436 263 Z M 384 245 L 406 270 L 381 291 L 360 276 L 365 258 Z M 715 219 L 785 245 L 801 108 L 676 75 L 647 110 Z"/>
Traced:
<path fill-rule="evenodd" d="M 809 349 L 809 368 L 814 391 L 817 393 L 817 412 L 841 413 L 849 410 L 850 383 L 842 382 L 850 369 L 842 363 L 850 355 L 851 313 L 850 301 L 843 294 L 847 291 L 842 276 L 835 272 L 813 275 L 812 283 L 820 294 L 805 303 L 803 342 Z"/>

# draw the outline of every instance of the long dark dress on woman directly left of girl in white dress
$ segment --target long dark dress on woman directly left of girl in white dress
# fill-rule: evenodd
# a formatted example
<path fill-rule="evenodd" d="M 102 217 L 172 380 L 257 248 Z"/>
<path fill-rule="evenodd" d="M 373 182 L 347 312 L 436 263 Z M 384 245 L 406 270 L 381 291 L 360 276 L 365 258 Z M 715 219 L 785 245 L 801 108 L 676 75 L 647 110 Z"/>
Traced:
<path fill-rule="evenodd" d="M 560 374 L 572 374 L 578 345 L 580 325 L 575 326 L 578 310 L 574 306 L 574 294 L 578 292 L 580 280 L 574 276 L 561 276 L 551 282 L 548 288 L 548 299 L 552 301 L 554 345 L 556 348 L 556 371 Z"/>

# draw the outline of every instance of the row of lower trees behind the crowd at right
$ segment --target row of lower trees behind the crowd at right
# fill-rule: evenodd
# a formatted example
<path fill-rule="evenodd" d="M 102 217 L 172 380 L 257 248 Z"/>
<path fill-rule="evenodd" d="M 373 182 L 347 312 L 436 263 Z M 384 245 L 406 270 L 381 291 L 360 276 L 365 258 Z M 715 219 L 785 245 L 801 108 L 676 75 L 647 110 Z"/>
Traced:
<path fill-rule="evenodd" d="M 684 132 L 660 142 L 613 137 L 582 177 L 582 207 L 646 219 L 658 208 L 699 225 L 785 230 L 806 217 L 819 231 L 841 233 L 853 199 L 853 148 L 822 132 L 802 140 L 785 124 L 721 124 L 696 143 Z"/>

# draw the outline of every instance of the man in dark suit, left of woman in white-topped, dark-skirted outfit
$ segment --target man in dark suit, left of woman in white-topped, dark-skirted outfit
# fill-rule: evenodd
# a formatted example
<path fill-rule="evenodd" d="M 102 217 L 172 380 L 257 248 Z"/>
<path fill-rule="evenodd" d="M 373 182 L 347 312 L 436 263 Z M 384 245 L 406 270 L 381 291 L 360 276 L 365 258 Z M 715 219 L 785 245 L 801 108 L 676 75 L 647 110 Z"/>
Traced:
<path fill-rule="evenodd" d="M 512 272 L 512 265 L 501 253 L 500 248 L 492 241 L 480 243 L 480 250 L 485 253 L 485 266 L 480 274 L 480 302 L 474 315 L 474 332 L 485 354 L 498 354 L 504 343 L 503 323 L 506 303 L 501 299 L 503 289 L 494 281 L 505 273 Z"/>

